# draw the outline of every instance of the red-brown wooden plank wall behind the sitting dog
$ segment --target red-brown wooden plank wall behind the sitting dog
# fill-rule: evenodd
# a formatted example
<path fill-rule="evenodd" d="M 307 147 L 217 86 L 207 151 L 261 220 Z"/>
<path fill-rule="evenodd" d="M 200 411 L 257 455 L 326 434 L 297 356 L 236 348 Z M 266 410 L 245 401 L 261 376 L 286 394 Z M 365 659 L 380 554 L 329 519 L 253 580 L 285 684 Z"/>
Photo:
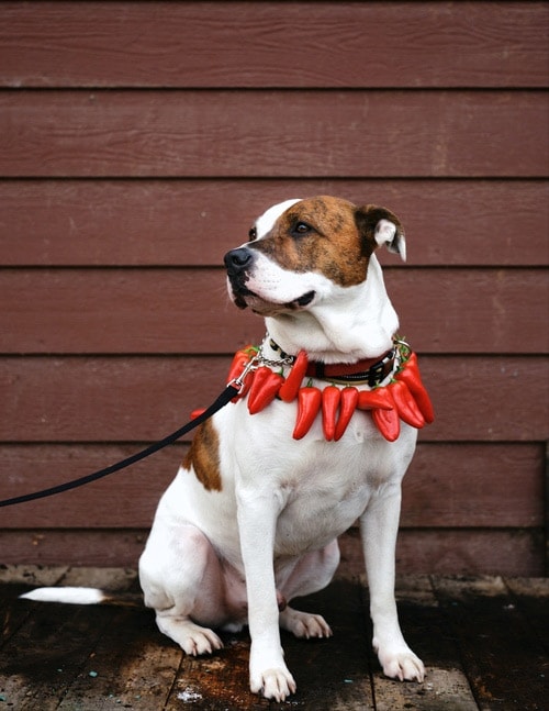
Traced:
<path fill-rule="evenodd" d="M 400 570 L 541 574 L 548 21 L 545 2 L 2 2 L 0 498 L 206 404 L 262 335 L 224 252 L 274 201 L 328 192 L 408 237 L 406 266 L 381 258 L 438 418 Z M 0 562 L 134 565 L 186 446 L 1 509 Z"/>

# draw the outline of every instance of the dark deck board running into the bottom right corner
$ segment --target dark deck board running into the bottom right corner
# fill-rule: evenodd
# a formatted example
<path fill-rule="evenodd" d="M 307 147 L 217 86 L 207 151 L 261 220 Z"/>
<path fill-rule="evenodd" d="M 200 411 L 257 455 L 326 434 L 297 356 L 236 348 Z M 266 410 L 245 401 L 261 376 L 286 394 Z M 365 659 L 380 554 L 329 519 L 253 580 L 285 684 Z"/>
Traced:
<path fill-rule="evenodd" d="M 479 708 L 539 709 L 547 691 L 546 652 L 533 640 L 529 621 L 501 578 L 482 586 L 444 578 L 435 580 L 435 589 L 459 641 Z M 502 674 L 503 664 L 506 674 Z"/>

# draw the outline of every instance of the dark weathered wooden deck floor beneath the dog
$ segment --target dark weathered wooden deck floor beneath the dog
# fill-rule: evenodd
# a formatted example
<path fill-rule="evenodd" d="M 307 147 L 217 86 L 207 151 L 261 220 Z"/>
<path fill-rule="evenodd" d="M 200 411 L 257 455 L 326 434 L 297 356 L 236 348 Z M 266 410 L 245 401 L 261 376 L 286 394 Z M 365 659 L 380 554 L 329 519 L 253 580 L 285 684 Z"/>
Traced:
<path fill-rule="evenodd" d="M 134 570 L 0 568 L 0 711 L 97 709 L 233 711 L 519 711 L 549 709 L 549 580 L 416 576 L 399 580 L 401 622 L 423 657 L 424 684 L 385 679 L 370 652 L 367 590 L 339 577 L 302 607 L 323 613 L 334 637 L 284 634 L 298 693 L 269 703 L 247 690 L 248 637 L 191 659 L 141 607 L 35 603 L 37 585 L 138 590 Z"/>

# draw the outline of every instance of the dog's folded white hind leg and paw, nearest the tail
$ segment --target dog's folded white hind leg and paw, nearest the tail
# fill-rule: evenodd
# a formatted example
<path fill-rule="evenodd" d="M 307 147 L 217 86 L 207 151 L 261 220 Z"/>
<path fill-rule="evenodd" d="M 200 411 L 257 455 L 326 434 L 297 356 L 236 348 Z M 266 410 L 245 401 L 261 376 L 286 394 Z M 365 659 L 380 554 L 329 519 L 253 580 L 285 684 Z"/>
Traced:
<path fill-rule="evenodd" d="M 158 629 L 187 654 L 210 654 L 223 646 L 209 629 L 227 622 L 223 571 L 201 531 L 181 525 L 168 537 L 166 530 L 154 527 L 139 560 L 139 579 Z"/>

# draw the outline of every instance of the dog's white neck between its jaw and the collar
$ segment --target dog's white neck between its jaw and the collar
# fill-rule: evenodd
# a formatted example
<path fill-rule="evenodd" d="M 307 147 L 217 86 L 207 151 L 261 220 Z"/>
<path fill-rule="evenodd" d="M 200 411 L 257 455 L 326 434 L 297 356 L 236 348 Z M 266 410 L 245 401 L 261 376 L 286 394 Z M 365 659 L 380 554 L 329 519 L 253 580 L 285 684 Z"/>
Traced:
<path fill-rule="evenodd" d="M 302 348 L 311 360 L 356 363 L 382 356 L 392 346 L 399 319 L 386 295 L 381 267 L 370 257 L 365 281 L 341 289 L 336 300 L 322 300 L 303 311 L 266 319 L 270 336 L 285 353 Z"/>

